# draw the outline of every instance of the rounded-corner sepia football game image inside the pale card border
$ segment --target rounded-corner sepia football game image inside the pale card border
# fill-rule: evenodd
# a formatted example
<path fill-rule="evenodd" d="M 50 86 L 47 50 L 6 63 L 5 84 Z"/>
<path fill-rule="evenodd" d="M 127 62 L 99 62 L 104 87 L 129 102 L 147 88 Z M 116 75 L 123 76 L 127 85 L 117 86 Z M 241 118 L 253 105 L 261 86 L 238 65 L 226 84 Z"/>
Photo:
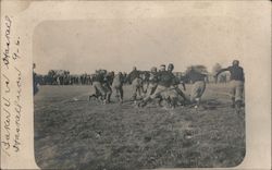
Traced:
<path fill-rule="evenodd" d="M 231 17 L 45 21 L 34 33 L 42 169 L 228 168 L 246 154 Z"/>

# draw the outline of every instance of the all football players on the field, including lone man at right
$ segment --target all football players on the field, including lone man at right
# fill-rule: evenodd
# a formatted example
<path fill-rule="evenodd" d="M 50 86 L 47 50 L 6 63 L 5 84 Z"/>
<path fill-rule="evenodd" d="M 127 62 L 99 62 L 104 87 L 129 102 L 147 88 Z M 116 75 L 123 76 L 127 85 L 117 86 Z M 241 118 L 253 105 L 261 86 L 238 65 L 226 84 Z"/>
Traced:
<path fill-rule="evenodd" d="M 185 104 L 194 104 L 197 108 L 206 89 L 205 80 L 207 73 L 191 66 L 183 80 L 181 80 L 173 74 L 173 70 L 174 65 L 172 63 L 168 68 L 162 64 L 159 70 L 153 66 L 146 77 L 143 77 L 141 72 L 136 66 L 133 68 L 133 71 L 127 76 L 124 76 L 121 72 L 112 75 L 104 70 L 96 71 L 92 77 L 92 87 L 95 90 L 89 96 L 89 100 L 95 97 L 106 105 L 111 102 L 111 95 L 114 90 L 115 97 L 122 104 L 124 98 L 123 84 L 124 82 L 128 82 L 133 90 L 131 99 L 138 107 L 145 107 L 152 101 L 161 106 L 161 102 L 164 100 L 172 108 Z M 243 105 L 245 82 L 244 70 L 239 66 L 239 61 L 234 60 L 231 66 L 220 70 L 214 75 L 215 80 L 224 71 L 231 73 L 232 107 L 240 108 Z M 186 90 L 184 82 L 188 81 L 193 83 L 193 87 L 189 96 L 186 96 L 184 94 L 184 90 Z M 146 84 L 146 88 L 144 88 L 144 83 Z M 180 84 L 183 90 L 178 87 Z"/>

